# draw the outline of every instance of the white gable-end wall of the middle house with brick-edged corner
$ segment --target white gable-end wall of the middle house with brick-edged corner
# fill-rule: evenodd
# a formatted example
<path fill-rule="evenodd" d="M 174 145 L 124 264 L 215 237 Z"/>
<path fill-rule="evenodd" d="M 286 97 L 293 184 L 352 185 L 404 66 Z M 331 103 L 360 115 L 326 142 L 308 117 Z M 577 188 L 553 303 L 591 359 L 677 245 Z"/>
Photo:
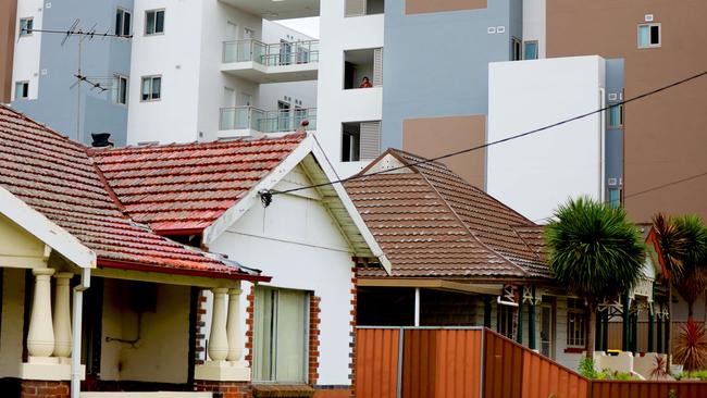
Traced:
<path fill-rule="evenodd" d="M 306 183 L 299 171 L 286 181 Z M 309 183 L 306 183 L 309 184 Z M 309 290 L 321 298 L 319 385 L 349 385 L 352 262 L 350 249 L 318 199 L 282 195 L 253 206 L 209 248 L 271 275 L 269 286 Z M 243 284 L 241 327 L 246 329 Z M 307 370 L 305 369 L 305 374 Z"/>

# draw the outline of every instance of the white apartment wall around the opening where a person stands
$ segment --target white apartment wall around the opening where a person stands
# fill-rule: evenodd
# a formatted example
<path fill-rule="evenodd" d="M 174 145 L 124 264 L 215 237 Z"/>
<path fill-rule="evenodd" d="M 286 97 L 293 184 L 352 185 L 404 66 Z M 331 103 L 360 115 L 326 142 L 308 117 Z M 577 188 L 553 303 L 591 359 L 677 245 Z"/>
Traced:
<path fill-rule="evenodd" d="M 368 164 L 340 161 L 342 123 L 380 121 L 383 117 L 383 87 L 344 90 L 344 51 L 381 48 L 384 32 L 384 14 L 345 17 L 344 3 L 339 0 L 320 4 L 317 95 L 317 135 L 342 177 L 355 174 Z"/>

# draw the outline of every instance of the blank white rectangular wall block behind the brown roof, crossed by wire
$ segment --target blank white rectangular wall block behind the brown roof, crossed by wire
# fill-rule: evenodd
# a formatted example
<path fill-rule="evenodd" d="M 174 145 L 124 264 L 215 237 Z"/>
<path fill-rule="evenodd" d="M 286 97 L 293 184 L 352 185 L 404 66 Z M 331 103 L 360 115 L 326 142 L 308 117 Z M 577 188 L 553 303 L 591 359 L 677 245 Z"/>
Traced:
<path fill-rule="evenodd" d="M 488 65 L 488 141 L 603 105 L 605 61 L 575 57 Z M 568 198 L 604 199 L 604 116 L 595 114 L 487 149 L 487 191 L 533 221 Z"/>

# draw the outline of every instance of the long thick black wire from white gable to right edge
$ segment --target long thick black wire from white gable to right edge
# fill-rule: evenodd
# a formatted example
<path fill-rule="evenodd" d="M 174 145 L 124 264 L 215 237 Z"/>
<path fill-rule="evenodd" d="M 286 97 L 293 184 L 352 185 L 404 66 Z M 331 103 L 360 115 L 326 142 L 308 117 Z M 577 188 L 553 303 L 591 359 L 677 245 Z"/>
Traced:
<path fill-rule="evenodd" d="M 585 117 L 588 117 L 591 115 L 601 113 L 601 112 L 604 112 L 604 111 L 606 111 L 608 109 L 619 107 L 619 105 L 622 105 L 622 104 L 625 104 L 625 103 L 634 102 L 634 101 L 641 100 L 641 99 L 646 98 L 646 97 L 654 96 L 654 95 L 656 95 L 658 92 L 666 91 L 666 90 L 668 90 L 670 88 L 673 88 L 673 87 L 683 85 L 685 83 L 695 80 L 695 79 L 697 79 L 699 77 L 703 77 L 705 75 L 707 75 L 707 71 L 697 73 L 697 74 L 692 75 L 690 77 L 685 77 L 685 78 L 680 79 L 678 82 L 673 82 L 673 83 L 671 83 L 669 85 L 658 87 L 656 89 L 644 92 L 644 94 L 638 95 L 636 97 L 632 97 L 632 98 L 625 99 L 623 101 L 613 102 L 613 103 L 611 103 L 609 105 L 599 108 L 599 109 L 597 109 L 595 111 L 592 111 L 592 112 L 586 112 L 586 113 L 583 113 L 583 114 L 580 114 L 580 115 L 576 115 L 576 116 L 573 116 L 573 117 L 570 117 L 570 119 L 562 120 L 562 121 L 557 122 L 557 123 L 548 124 L 546 126 L 535 128 L 535 129 L 531 129 L 531 130 L 525 132 L 525 133 L 517 134 L 514 136 L 510 136 L 510 137 L 506 137 L 506 138 L 503 138 L 503 139 L 495 140 L 495 141 L 486 142 L 486 144 L 483 144 L 483 145 L 480 145 L 480 146 L 476 146 L 476 147 L 473 147 L 473 148 L 467 148 L 467 149 L 458 150 L 456 152 L 450 152 L 450 153 L 447 153 L 447 154 L 443 154 L 441 157 L 420 160 L 420 161 L 412 162 L 410 164 L 405 164 L 405 165 L 397 166 L 397 167 L 390 167 L 390 169 L 382 170 L 382 171 L 370 173 L 370 174 L 363 174 L 363 175 L 357 174 L 357 175 L 352 175 L 352 176 L 347 177 L 347 178 L 340 178 L 340 179 L 336 179 L 336 181 L 328 182 L 328 183 L 313 184 L 313 185 L 309 185 L 309 186 L 305 186 L 305 187 L 285 189 L 285 190 L 280 190 L 280 191 L 263 190 L 263 191 L 260 192 L 260 195 L 261 196 L 272 197 L 272 196 L 275 196 L 275 195 L 290 194 L 290 192 L 295 192 L 295 191 L 299 191 L 299 190 L 319 188 L 319 187 L 334 185 L 334 184 L 342 184 L 342 183 L 346 183 L 346 182 L 354 181 L 354 179 L 365 178 L 365 177 L 370 177 L 370 176 L 374 176 L 374 175 L 379 175 L 379 174 L 385 174 L 385 173 L 394 172 L 394 171 L 397 171 L 397 170 L 410 169 L 412 166 L 417 166 L 417 165 L 420 165 L 420 164 L 436 162 L 436 161 L 442 160 L 442 159 L 447 159 L 447 158 L 456 157 L 456 156 L 463 154 L 463 153 L 467 153 L 467 152 L 472 152 L 472 151 L 475 151 L 475 150 L 479 150 L 479 149 L 488 148 L 488 147 L 494 146 L 494 145 L 511 141 L 511 140 L 514 140 L 514 139 L 518 139 L 518 138 L 522 138 L 522 137 L 525 137 L 525 136 L 530 136 L 530 135 L 533 135 L 533 134 L 544 132 L 546 129 L 550 129 L 550 128 L 554 128 L 554 127 L 557 127 L 557 126 L 561 126 L 563 124 L 568 124 L 568 123 L 571 123 L 571 122 L 574 122 L 574 121 L 579 121 L 581 119 L 585 119 Z"/>

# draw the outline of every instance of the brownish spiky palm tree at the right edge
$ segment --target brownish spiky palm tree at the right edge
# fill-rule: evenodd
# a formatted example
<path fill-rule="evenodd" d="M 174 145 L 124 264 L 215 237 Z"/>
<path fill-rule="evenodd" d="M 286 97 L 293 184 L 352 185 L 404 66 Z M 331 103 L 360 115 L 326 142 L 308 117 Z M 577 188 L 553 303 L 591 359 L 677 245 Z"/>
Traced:
<path fill-rule="evenodd" d="M 707 288 L 707 227 L 696 215 L 653 217 L 670 287 L 687 303 L 687 319 L 693 319 L 695 301 Z"/>

